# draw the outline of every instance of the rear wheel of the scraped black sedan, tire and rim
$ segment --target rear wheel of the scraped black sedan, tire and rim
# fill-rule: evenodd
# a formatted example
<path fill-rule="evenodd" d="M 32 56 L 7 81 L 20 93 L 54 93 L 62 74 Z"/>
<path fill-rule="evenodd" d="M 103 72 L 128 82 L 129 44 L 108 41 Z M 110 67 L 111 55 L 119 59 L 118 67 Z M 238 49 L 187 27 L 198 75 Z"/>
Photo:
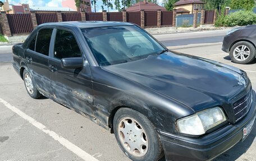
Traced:
<path fill-rule="evenodd" d="M 23 80 L 26 91 L 31 96 L 31 98 L 38 99 L 42 96 L 39 91 L 36 89 L 34 80 L 31 78 L 30 73 L 27 70 L 23 71 Z"/>

